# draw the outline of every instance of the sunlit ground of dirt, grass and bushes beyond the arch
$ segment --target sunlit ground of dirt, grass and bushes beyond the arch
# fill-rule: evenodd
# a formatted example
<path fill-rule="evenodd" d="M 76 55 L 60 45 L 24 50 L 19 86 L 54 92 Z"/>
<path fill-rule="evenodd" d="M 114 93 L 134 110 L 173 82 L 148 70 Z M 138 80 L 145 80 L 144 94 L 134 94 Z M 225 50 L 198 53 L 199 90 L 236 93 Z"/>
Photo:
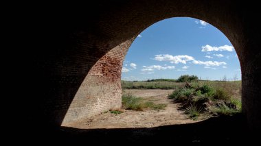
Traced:
<path fill-rule="evenodd" d="M 241 110 L 241 82 L 122 81 L 122 108 L 70 123 L 82 129 L 195 123 Z"/>

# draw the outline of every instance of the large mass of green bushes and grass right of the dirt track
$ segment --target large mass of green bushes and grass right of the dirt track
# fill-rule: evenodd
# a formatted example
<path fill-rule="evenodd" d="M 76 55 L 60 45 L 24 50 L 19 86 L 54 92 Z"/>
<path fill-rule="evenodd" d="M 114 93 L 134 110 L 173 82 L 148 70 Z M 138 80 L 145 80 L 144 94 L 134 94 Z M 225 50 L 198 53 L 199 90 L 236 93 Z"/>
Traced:
<path fill-rule="evenodd" d="M 192 119 L 200 113 L 232 115 L 241 112 L 240 84 L 238 82 L 196 82 L 174 90 L 170 99 L 181 102 Z M 239 88 L 239 89 L 238 89 Z"/>

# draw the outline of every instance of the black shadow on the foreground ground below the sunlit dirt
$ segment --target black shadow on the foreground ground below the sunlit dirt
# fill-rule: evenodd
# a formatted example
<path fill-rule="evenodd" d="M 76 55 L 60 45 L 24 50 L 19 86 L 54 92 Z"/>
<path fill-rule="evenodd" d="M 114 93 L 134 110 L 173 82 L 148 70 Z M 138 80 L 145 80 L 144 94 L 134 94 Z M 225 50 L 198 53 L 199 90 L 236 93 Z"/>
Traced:
<path fill-rule="evenodd" d="M 240 114 L 198 123 L 151 128 L 83 130 L 60 127 L 58 133 L 49 136 L 52 136 L 52 141 L 72 145 L 235 145 L 250 144 L 252 139 L 255 140 L 247 131 Z"/>

